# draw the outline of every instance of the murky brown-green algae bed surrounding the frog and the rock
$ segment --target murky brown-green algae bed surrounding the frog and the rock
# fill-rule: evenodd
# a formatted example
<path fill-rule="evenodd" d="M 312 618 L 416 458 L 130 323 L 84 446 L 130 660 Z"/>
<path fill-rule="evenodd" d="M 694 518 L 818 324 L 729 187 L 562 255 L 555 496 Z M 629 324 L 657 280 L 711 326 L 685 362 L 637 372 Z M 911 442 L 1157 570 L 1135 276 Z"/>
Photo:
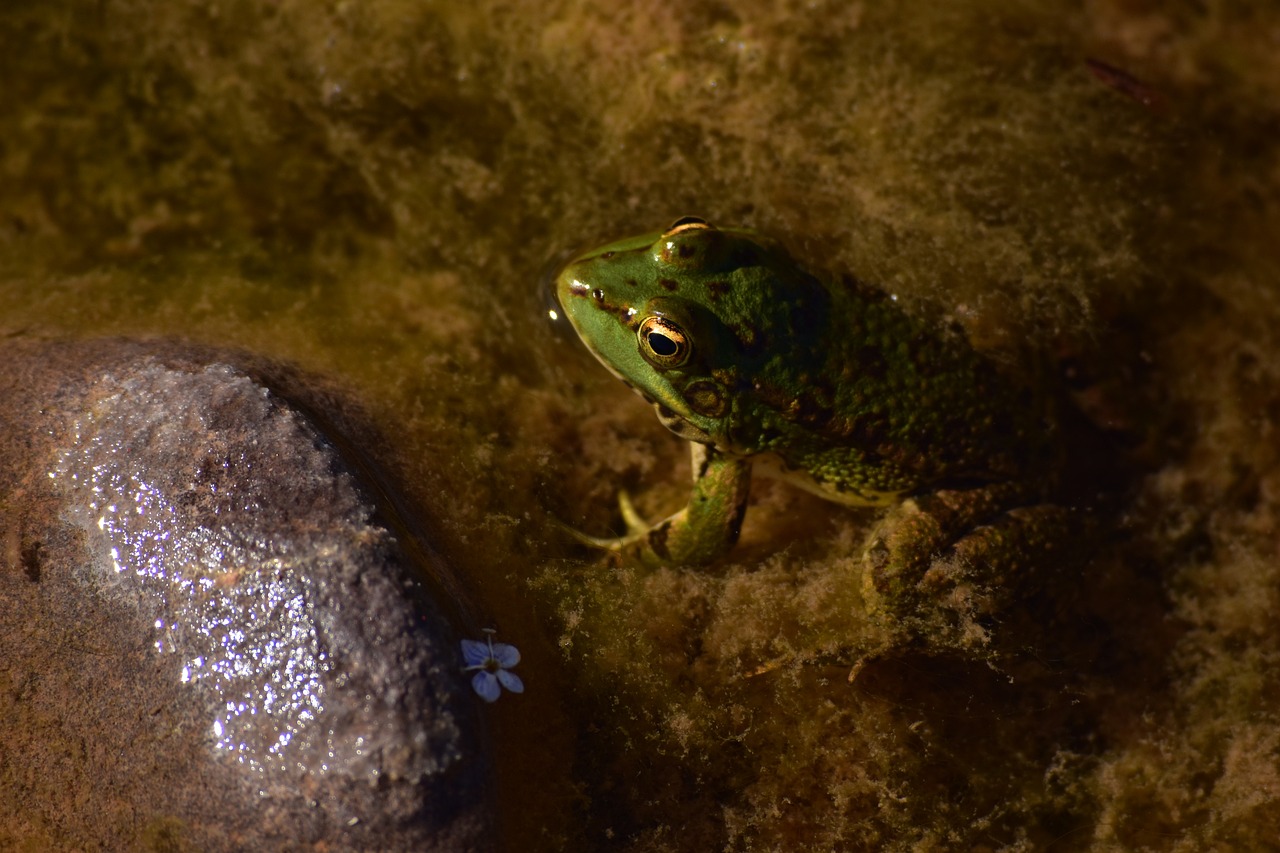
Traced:
<path fill-rule="evenodd" d="M 59 0 L 0 33 L 0 330 L 179 336 L 348 388 L 525 652 L 492 715 L 509 844 L 1280 836 L 1267 4 Z M 714 573 L 557 533 L 616 524 L 621 487 L 678 505 L 687 464 L 545 321 L 540 273 L 684 214 L 1070 356 L 1135 447 L 1065 601 L 995 625 L 995 657 L 850 680 L 886 642 L 859 619 L 874 514 L 762 485 Z"/>

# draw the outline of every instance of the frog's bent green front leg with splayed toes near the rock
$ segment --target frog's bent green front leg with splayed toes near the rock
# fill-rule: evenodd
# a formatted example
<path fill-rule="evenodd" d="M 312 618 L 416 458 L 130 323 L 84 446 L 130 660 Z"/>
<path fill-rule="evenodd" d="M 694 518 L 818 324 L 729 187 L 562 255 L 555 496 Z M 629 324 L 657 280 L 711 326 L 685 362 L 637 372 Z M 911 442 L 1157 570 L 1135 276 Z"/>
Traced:
<path fill-rule="evenodd" d="M 627 535 L 614 539 L 579 538 L 626 560 L 650 566 L 703 565 L 727 553 L 742 529 L 751 485 L 751 464 L 691 443 L 694 492 L 684 510 L 648 525 L 630 498 L 618 498 Z"/>

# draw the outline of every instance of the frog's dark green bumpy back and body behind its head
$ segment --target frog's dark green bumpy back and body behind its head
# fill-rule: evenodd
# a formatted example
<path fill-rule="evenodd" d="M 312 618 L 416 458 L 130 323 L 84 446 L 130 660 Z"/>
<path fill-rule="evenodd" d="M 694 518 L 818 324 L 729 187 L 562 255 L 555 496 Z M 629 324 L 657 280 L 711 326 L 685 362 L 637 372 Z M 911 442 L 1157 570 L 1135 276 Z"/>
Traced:
<path fill-rule="evenodd" d="M 754 423 L 739 444 L 772 455 L 767 469 L 850 503 L 1052 469 L 1055 419 L 1030 383 L 881 291 L 810 278 L 824 293 L 812 339 L 762 370 L 742 406 Z"/>

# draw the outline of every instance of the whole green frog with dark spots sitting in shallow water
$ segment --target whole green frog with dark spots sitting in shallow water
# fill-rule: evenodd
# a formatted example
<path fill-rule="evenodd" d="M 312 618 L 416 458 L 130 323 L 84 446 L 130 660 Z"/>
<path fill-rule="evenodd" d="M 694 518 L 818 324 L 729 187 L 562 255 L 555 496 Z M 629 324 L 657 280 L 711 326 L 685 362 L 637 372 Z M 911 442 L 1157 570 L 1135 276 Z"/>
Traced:
<path fill-rule="evenodd" d="M 899 608 L 929 585 L 934 556 L 1009 562 L 1057 526 L 1043 503 L 1060 464 L 1052 401 L 881 291 L 695 218 L 575 257 L 556 288 L 591 352 L 694 450 L 684 510 L 649 526 L 623 497 L 628 535 L 594 544 L 712 562 L 737 539 L 755 467 L 892 507 L 864 588 L 873 607 Z"/>

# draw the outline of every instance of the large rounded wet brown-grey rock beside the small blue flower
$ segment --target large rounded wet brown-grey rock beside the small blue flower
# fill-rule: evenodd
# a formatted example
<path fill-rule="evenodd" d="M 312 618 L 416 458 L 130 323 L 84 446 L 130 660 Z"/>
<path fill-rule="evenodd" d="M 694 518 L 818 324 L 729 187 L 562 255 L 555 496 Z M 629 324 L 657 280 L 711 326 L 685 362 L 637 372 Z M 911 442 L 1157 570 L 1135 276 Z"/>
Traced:
<path fill-rule="evenodd" d="M 0 847 L 492 847 L 443 569 L 307 418 L 169 345 L 0 357 Z"/>

